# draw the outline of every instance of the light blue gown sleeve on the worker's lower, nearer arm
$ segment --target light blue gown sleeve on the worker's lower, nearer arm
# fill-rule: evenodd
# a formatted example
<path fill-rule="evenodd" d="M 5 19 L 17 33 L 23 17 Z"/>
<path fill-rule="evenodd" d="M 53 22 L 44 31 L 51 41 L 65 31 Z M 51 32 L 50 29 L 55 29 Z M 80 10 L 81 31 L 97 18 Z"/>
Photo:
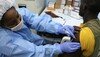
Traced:
<path fill-rule="evenodd" d="M 7 57 L 53 57 L 62 53 L 59 44 L 36 46 L 20 36 L 5 36 L 0 38 L 0 53 Z"/>

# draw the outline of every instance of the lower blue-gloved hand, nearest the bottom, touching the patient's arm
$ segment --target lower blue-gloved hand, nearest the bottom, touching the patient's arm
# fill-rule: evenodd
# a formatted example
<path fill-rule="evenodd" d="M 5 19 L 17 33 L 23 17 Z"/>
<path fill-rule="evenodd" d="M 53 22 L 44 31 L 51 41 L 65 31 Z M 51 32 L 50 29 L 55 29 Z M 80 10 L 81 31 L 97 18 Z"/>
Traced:
<path fill-rule="evenodd" d="M 80 48 L 80 43 L 64 42 L 64 43 L 60 44 L 60 48 L 61 48 L 62 52 L 71 53 L 71 52 L 75 52 L 77 49 Z"/>

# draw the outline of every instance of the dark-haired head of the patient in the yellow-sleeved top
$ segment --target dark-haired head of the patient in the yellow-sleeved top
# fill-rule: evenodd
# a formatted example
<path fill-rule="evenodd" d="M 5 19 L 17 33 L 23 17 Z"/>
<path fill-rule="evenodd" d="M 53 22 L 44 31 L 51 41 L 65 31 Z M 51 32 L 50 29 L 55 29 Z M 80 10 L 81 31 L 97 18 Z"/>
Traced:
<path fill-rule="evenodd" d="M 100 12 L 100 0 L 81 0 L 79 15 L 89 17 L 90 14 L 96 18 Z M 92 16 L 91 16 L 92 17 Z"/>

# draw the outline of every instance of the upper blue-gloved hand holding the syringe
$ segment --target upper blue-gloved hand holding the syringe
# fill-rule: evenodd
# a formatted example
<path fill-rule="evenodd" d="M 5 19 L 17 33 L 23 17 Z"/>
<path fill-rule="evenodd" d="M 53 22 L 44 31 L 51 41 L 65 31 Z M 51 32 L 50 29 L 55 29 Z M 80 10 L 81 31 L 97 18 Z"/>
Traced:
<path fill-rule="evenodd" d="M 66 34 L 68 36 L 75 38 L 73 26 L 66 25 L 66 26 L 60 27 L 58 28 L 58 33 Z"/>

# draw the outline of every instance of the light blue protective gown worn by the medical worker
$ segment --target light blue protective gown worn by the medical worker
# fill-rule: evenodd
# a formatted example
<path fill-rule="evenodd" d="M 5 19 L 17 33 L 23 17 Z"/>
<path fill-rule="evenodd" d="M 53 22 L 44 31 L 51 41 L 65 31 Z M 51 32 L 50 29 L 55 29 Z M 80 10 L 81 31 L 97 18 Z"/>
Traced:
<path fill-rule="evenodd" d="M 25 8 L 18 9 L 23 17 L 24 25 L 19 31 L 11 31 L 0 27 L 0 57 L 53 57 L 62 53 L 59 44 L 42 45 L 44 39 L 31 32 L 38 31 L 56 33 L 62 25 L 52 22 L 49 15 L 37 16 Z"/>

